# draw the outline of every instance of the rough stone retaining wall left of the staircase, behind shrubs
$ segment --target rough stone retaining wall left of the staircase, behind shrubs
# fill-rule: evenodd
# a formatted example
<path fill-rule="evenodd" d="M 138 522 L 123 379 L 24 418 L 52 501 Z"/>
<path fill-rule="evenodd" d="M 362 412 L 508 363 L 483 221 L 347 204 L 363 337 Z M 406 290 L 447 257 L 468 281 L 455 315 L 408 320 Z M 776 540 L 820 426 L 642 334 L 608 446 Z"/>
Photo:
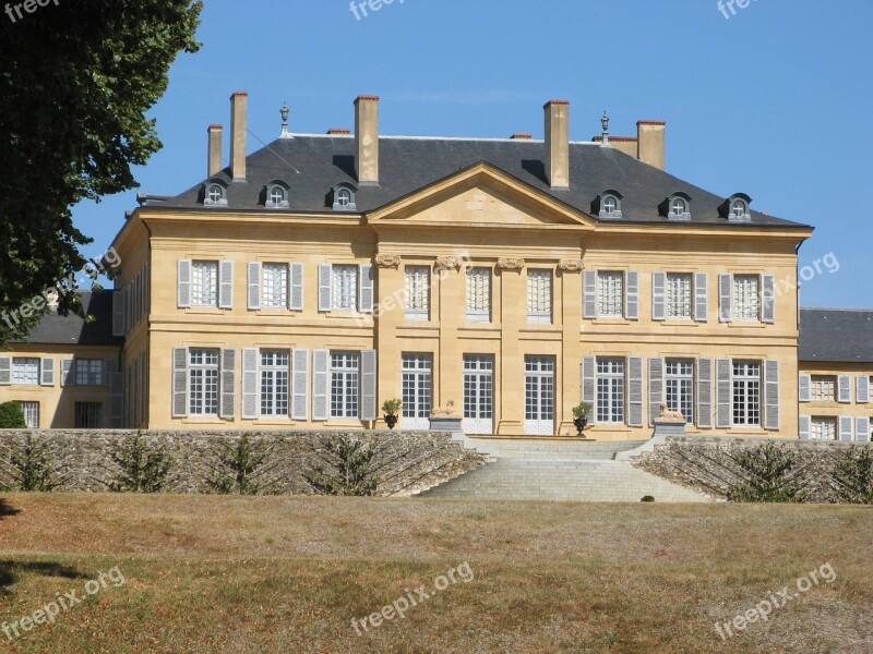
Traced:
<path fill-rule="evenodd" d="M 370 444 L 375 456 L 372 471 L 379 479 L 380 496 L 414 495 L 482 465 L 487 457 L 438 432 L 183 432 L 143 431 L 150 445 L 164 444 L 175 459 L 167 491 L 210 493 L 206 480 L 227 445 L 236 445 L 249 434 L 255 447 L 270 447 L 272 453 L 255 472 L 262 483 L 284 485 L 284 493 L 308 495 L 313 491 L 304 473 L 325 464 L 324 444 L 331 436 L 347 433 Z M 47 443 L 56 463 L 58 491 L 101 492 L 119 473 L 112 455 L 135 431 L 101 429 L 0 429 L 0 487 L 12 486 L 13 446 L 28 435 Z M 327 470 L 327 468 L 325 468 Z"/>

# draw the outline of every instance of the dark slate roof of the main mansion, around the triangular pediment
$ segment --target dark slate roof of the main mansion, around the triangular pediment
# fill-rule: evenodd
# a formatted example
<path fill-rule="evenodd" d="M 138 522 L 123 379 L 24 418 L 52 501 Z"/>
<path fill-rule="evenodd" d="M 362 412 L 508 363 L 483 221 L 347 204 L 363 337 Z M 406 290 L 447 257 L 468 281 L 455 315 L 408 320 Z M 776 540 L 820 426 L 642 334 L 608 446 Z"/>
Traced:
<path fill-rule="evenodd" d="M 461 170 L 487 162 L 571 207 L 591 214 L 591 203 L 608 190 L 622 194 L 623 218 L 603 222 L 666 223 L 659 205 L 670 195 L 691 196 L 692 225 L 803 228 L 808 226 L 752 211 L 751 223 L 729 223 L 719 214 L 725 202 L 693 184 L 596 143 L 570 144 L 569 190 L 552 190 L 546 173 L 546 143 L 526 140 L 476 140 L 380 136 L 379 185 L 361 185 L 356 213 L 379 209 L 396 199 L 444 180 Z M 211 210 L 278 210 L 328 213 L 333 187 L 346 182 L 357 186 L 356 142 L 348 135 L 299 135 L 278 138 L 247 157 L 247 182 L 231 182 L 229 169 L 215 178 L 227 185 L 227 207 L 204 207 L 207 180 L 176 197 L 145 196 L 145 206 Z M 289 207 L 266 209 L 264 189 L 276 180 L 289 185 Z M 595 216 L 595 219 L 597 217 Z M 687 221 L 683 221 L 687 223 Z"/>

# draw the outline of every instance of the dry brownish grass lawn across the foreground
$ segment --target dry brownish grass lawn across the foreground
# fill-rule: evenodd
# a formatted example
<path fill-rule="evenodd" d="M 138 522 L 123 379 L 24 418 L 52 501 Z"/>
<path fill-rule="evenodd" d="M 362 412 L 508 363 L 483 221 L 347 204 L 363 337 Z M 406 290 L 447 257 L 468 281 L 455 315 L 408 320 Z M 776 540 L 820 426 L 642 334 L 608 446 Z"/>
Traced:
<path fill-rule="evenodd" d="M 873 652 L 873 512 L 833 506 L 574 505 L 5 495 L 0 622 L 119 566 L 127 583 L 13 652 Z M 363 617 L 468 561 L 405 619 Z M 714 629 L 830 561 L 723 642 Z M 80 591 L 81 592 L 81 591 Z"/>

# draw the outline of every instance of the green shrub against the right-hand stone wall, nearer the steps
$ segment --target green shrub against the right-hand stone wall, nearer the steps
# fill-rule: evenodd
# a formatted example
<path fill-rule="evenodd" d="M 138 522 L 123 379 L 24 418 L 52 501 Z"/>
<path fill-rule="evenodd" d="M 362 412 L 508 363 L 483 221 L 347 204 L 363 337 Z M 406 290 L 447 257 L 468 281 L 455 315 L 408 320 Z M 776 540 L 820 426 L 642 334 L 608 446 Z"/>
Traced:
<path fill-rule="evenodd" d="M 744 480 L 728 489 L 731 501 L 800 502 L 809 496 L 798 479 L 796 455 L 766 443 L 731 456 Z"/>

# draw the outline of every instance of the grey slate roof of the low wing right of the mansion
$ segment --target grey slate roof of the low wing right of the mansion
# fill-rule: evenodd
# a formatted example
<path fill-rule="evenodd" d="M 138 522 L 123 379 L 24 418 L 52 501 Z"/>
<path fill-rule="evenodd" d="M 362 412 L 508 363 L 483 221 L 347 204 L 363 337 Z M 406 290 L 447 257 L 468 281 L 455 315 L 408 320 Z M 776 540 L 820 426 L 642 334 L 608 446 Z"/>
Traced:
<path fill-rule="evenodd" d="M 873 310 L 801 308 L 799 359 L 873 363 Z"/>

